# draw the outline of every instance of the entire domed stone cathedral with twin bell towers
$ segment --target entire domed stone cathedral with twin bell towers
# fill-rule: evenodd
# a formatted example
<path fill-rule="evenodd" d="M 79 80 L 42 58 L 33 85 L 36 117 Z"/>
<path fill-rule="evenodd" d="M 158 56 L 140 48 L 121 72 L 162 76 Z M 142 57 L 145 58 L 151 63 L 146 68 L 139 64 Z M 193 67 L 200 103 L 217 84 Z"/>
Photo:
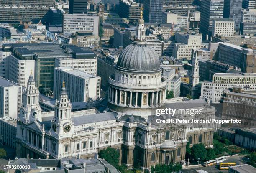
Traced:
<path fill-rule="evenodd" d="M 71 112 L 64 81 L 54 111 L 42 112 L 31 74 L 17 120 L 18 158 L 93 158 L 111 147 L 120 153 L 120 163 L 145 170 L 183 161 L 187 142 L 212 147 L 214 125 L 157 123 L 156 119 L 177 117 L 208 120 L 215 117 L 215 108 L 205 99 L 165 99 L 166 81 L 158 56 L 146 44 L 142 18 L 136 39 L 120 54 L 109 84 L 108 112 Z M 156 109 L 179 107 L 202 109 L 202 114 L 155 115 Z"/>

